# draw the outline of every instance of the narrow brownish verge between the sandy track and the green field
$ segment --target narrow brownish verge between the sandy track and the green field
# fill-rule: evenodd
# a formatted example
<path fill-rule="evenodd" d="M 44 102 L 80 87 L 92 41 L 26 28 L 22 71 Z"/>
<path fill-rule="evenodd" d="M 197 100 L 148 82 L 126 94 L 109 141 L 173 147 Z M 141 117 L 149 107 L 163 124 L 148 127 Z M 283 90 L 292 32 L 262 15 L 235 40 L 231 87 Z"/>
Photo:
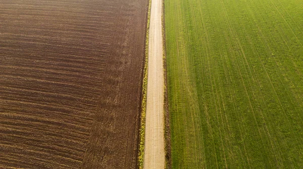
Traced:
<path fill-rule="evenodd" d="M 162 1 L 162 39 L 163 39 L 163 76 L 164 76 L 164 144 L 165 144 L 165 168 L 172 168 L 171 158 L 171 134 L 169 120 L 169 104 L 167 89 L 167 66 L 166 66 L 166 38 L 165 38 L 165 1 Z"/>

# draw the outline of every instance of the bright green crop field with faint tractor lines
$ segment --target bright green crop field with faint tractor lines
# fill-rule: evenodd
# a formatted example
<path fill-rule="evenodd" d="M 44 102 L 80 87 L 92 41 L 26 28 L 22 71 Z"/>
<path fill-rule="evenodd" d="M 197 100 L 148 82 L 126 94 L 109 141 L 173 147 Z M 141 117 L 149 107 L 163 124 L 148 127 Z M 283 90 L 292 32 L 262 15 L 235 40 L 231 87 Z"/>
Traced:
<path fill-rule="evenodd" d="M 303 168 L 303 1 L 164 1 L 173 168 Z"/>

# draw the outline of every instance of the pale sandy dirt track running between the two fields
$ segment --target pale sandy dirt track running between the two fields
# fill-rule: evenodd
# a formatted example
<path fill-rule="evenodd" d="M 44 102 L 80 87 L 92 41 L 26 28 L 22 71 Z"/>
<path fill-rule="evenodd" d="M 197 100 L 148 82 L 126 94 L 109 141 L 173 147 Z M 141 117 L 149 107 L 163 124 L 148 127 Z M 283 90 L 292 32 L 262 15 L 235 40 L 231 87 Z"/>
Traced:
<path fill-rule="evenodd" d="M 162 0 L 151 1 L 144 168 L 164 168 Z"/>

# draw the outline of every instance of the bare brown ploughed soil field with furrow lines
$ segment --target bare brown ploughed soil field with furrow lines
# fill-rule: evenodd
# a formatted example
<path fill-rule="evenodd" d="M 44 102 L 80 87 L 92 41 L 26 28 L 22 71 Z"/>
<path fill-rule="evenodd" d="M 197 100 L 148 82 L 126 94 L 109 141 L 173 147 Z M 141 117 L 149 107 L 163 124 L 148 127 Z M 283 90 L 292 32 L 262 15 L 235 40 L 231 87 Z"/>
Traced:
<path fill-rule="evenodd" d="M 136 168 L 147 4 L 0 2 L 0 168 Z"/>

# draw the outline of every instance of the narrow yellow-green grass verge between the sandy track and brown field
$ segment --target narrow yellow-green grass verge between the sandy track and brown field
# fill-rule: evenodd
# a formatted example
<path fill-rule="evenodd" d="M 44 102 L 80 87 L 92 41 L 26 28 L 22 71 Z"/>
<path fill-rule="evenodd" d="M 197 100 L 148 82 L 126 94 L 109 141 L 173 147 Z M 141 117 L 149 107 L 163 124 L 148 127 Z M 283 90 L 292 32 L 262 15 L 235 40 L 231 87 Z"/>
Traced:
<path fill-rule="evenodd" d="M 150 19 L 151 0 L 148 0 L 146 36 L 145 36 L 145 58 L 142 82 L 142 103 L 140 117 L 140 134 L 139 134 L 139 151 L 138 151 L 138 168 L 143 168 L 144 163 L 144 142 L 145 142 L 145 113 L 146 113 L 146 92 L 147 92 L 147 70 L 148 70 L 148 36 L 149 36 L 149 19 Z"/>

